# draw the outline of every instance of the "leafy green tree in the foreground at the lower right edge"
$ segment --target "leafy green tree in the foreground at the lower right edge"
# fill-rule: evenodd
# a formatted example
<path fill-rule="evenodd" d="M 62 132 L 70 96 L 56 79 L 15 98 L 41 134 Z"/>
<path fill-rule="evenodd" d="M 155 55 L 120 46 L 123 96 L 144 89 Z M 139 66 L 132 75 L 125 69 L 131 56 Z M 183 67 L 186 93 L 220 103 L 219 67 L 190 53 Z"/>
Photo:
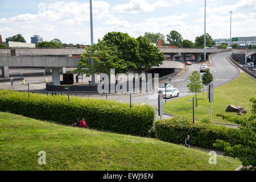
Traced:
<path fill-rule="evenodd" d="M 229 115 L 216 114 L 217 117 L 237 123 L 238 129 L 232 130 L 221 127 L 221 130 L 227 137 L 233 138 L 233 143 L 224 142 L 221 139 L 216 140 L 214 147 L 224 150 L 224 156 L 239 159 L 242 165 L 250 166 L 249 170 L 256 170 L 256 98 L 250 98 L 251 116 L 250 117 L 230 117 Z"/>

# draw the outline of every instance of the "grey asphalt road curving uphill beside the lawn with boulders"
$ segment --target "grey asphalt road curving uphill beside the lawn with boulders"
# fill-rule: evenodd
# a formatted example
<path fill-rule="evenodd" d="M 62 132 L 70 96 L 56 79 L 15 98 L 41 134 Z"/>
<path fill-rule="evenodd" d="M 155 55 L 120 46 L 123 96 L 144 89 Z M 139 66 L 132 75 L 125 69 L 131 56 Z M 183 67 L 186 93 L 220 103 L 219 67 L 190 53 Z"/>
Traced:
<path fill-rule="evenodd" d="M 212 55 L 212 66 L 210 66 L 210 72 L 213 74 L 214 81 L 213 85 L 214 88 L 227 84 L 228 82 L 234 80 L 240 75 L 240 71 L 238 68 L 234 67 L 232 63 L 229 62 L 228 56 L 232 52 L 222 52 L 216 53 Z M 187 66 L 188 70 L 172 79 L 171 84 L 174 88 L 177 88 L 180 92 L 180 97 L 185 97 L 188 95 L 192 95 L 193 93 L 188 92 L 187 84 L 189 83 L 189 76 L 193 71 L 199 71 L 201 63 L 195 63 L 191 66 Z M 203 73 L 200 73 L 203 75 Z M 168 82 L 168 81 L 167 81 Z M 159 86 L 163 84 L 161 82 Z M 207 90 L 207 87 L 204 87 L 204 90 Z M 108 96 L 110 100 L 117 100 L 121 102 L 130 102 L 129 96 Z M 177 97 L 168 99 L 167 101 L 175 100 Z M 134 94 L 132 96 L 133 104 L 150 104 L 154 107 L 158 105 L 158 94 Z"/>

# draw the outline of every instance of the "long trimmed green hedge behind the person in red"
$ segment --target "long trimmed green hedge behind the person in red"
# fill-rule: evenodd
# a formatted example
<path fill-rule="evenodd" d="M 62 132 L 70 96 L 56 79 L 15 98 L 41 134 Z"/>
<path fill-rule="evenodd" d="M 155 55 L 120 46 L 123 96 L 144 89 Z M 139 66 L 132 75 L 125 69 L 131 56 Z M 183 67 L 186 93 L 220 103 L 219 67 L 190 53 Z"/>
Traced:
<path fill-rule="evenodd" d="M 71 125 L 85 118 L 90 128 L 115 133 L 146 136 L 155 120 L 149 105 L 123 104 L 117 101 L 67 96 L 46 96 L 27 92 L 0 92 L 0 111 Z"/>

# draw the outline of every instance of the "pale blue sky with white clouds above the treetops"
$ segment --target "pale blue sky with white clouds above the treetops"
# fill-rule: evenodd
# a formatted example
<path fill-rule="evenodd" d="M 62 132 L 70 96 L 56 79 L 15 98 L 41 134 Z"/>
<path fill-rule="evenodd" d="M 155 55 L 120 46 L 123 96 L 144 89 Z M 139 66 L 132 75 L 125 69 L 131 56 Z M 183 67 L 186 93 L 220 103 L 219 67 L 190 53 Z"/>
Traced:
<path fill-rule="evenodd" d="M 256 36 L 256 0 L 206 0 L 206 31 L 213 39 Z M 111 31 L 137 38 L 144 32 L 165 36 L 176 30 L 195 41 L 204 34 L 204 0 L 92 1 L 94 43 Z M 0 0 L 0 35 L 40 35 L 44 41 L 90 44 L 89 0 Z"/>

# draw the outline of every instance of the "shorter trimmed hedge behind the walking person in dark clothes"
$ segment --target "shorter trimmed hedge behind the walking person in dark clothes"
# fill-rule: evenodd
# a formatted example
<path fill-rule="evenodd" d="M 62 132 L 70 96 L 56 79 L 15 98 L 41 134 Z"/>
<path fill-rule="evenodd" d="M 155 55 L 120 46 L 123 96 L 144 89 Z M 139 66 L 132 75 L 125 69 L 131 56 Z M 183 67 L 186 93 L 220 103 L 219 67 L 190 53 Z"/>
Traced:
<path fill-rule="evenodd" d="M 236 129 L 229 129 L 236 130 Z M 236 139 L 229 138 L 221 131 L 220 126 L 209 123 L 192 123 L 185 118 L 163 119 L 155 123 L 156 138 L 165 142 L 185 144 L 190 135 L 191 146 L 213 148 L 217 139 L 233 143 Z"/>

